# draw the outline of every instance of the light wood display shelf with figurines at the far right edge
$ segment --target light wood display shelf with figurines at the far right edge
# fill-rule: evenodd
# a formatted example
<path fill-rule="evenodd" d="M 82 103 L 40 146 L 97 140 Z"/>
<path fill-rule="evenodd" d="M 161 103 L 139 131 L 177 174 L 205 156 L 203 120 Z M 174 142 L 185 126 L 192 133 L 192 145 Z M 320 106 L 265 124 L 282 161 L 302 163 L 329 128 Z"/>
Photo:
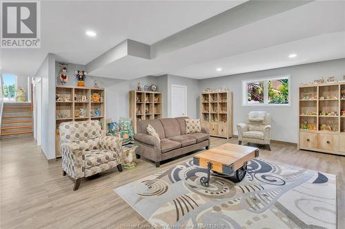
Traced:
<path fill-rule="evenodd" d="M 300 85 L 299 149 L 345 155 L 345 144 L 341 144 L 345 140 L 342 89 L 345 82 L 336 82 L 334 77 Z"/>

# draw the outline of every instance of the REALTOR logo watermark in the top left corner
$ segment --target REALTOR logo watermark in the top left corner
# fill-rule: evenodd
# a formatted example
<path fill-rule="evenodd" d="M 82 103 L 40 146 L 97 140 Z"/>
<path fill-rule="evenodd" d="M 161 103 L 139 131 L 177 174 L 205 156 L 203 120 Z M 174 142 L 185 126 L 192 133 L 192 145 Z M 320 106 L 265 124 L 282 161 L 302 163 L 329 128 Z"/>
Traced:
<path fill-rule="evenodd" d="M 1 1 L 1 48 L 41 47 L 39 1 Z"/>

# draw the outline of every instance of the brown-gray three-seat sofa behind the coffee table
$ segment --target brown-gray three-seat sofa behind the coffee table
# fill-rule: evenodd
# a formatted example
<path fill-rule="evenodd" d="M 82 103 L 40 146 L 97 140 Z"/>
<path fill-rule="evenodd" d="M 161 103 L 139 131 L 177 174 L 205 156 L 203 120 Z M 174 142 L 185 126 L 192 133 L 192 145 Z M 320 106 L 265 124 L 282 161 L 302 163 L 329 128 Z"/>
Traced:
<path fill-rule="evenodd" d="M 201 127 L 200 133 L 186 134 L 188 117 L 161 118 L 158 120 L 142 120 L 137 122 L 135 144 L 138 146 L 137 158 L 146 157 L 159 167 L 161 161 L 183 155 L 197 149 L 210 147 L 210 133 L 208 127 Z M 148 135 L 148 124 L 158 133 L 160 140 Z"/>

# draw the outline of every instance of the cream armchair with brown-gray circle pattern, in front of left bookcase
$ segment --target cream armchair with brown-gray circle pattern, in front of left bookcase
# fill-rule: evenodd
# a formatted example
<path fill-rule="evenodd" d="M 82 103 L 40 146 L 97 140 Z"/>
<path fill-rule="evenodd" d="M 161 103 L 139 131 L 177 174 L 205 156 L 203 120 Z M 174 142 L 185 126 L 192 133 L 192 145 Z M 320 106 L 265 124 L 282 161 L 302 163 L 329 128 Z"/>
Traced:
<path fill-rule="evenodd" d="M 63 175 L 75 179 L 79 188 L 81 179 L 121 166 L 122 139 L 104 136 L 99 121 L 62 122 L 59 126 Z"/>

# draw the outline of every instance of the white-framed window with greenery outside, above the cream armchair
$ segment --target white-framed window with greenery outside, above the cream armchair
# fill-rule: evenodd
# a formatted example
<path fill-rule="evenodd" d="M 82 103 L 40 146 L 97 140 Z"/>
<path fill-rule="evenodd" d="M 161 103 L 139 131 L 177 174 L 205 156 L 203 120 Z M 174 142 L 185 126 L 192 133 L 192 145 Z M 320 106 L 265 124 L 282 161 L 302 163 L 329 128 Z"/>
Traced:
<path fill-rule="evenodd" d="M 242 81 L 244 106 L 290 105 L 290 76 Z"/>

